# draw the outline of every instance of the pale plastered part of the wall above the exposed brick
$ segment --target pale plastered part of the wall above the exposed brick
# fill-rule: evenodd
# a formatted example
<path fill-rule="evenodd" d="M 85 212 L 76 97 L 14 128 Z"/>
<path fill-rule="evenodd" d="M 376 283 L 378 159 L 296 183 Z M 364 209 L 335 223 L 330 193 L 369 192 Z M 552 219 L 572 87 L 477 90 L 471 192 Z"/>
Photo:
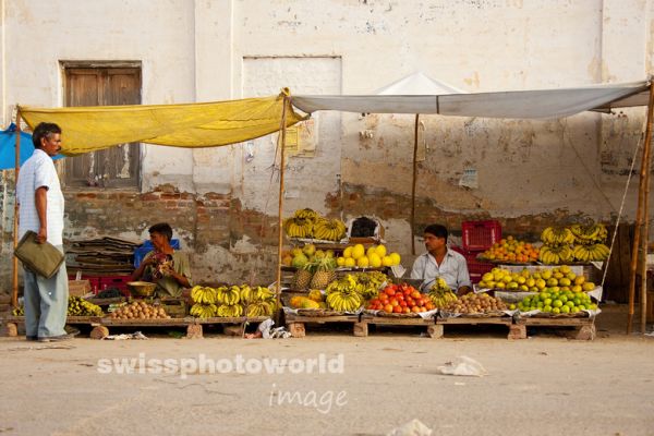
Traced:
<path fill-rule="evenodd" d="M 62 60 L 141 60 L 144 104 L 276 94 L 281 86 L 365 94 L 416 70 L 468 92 L 561 87 L 639 80 L 654 65 L 653 0 L 4 0 L 3 7 L 3 59 L 21 59 L 3 64 L 5 123 L 16 101 L 61 105 Z M 281 63 L 256 61 L 275 58 Z M 338 59 L 338 77 L 311 64 L 316 58 Z M 429 152 L 419 193 L 437 192 L 452 210 L 607 215 L 603 204 L 619 199 L 625 178 L 601 172 L 601 159 L 608 153 L 628 160 L 643 110 L 628 113 L 628 124 L 598 114 L 566 122 L 426 117 Z M 323 149 L 339 143 L 341 149 L 293 166 L 290 191 L 308 186 L 304 203 L 324 208 L 342 170 L 347 182 L 409 192 L 412 117 L 325 117 Z M 363 129 L 374 138 L 361 142 Z M 629 129 L 619 147 L 610 141 L 616 129 Z M 244 164 L 240 146 L 145 146 L 143 190 L 172 183 L 234 192 L 244 207 L 261 210 L 271 144 L 256 144 L 264 152 L 255 165 Z M 477 169 L 480 189 L 458 187 L 467 167 Z M 524 198 L 507 180 L 521 182 Z M 302 203 L 290 198 L 289 207 Z"/>

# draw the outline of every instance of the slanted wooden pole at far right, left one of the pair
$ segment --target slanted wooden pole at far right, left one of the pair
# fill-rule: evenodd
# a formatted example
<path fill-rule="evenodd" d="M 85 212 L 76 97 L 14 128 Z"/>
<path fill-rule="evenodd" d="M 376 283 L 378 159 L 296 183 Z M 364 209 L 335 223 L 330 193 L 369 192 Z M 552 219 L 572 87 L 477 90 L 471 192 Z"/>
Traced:
<path fill-rule="evenodd" d="M 629 277 L 629 314 L 627 317 L 627 335 L 631 335 L 633 328 L 633 313 L 635 300 L 635 270 L 638 267 L 638 255 L 641 249 L 641 228 L 643 226 L 643 204 L 645 199 L 645 179 L 649 172 L 650 148 L 652 143 L 652 110 L 654 107 L 654 86 L 650 84 L 650 102 L 647 105 L 647 125 L 645 129 L 645 144 L 641 160 L 640 180 L 638 185 L 638 208 L 635 211 L 635 226 L 633 231 L 633 245 L 631 247 L 631 265 Z M 646 258 L 646 252 L 643 253 Z"/>

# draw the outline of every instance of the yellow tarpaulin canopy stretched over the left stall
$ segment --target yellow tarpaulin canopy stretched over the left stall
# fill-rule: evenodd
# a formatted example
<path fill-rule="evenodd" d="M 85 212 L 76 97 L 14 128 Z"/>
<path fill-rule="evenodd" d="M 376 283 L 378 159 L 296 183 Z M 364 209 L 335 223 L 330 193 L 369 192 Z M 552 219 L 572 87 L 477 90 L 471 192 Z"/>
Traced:
<path fill-rule="evenodd" d="M 68 156 L 119 144 L 143 142 L 174 147 L 216 147 L 264 136 L 281 128 L 284 93 L 242 100 L 156 106 L 70 108 L 20 107 L 34 129 L 40 122 L 59 124 Z M 287 126 L 303 120 L 287 98 Z"/>

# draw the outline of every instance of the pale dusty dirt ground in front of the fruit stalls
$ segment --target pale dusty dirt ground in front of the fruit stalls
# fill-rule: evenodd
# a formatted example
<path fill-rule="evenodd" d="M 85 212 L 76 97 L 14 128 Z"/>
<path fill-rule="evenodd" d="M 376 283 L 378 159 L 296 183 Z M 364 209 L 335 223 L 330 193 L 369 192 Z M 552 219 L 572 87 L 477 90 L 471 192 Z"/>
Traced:
<path fill-rule="evenodd" d="M 654 338 L 627 337 L 620 311 L 600 315 L 594 341 L 507 340 L 501 328 L 446 330 L 445 339 L 413 329 L 367 338 L 310 329 L 284 340 L 2 338 L 0 434 L 385 435 L 417 419 L 433 435 L 654 435 Z M 300 371 L 320 353 L 331 372 Z M 198 363 L 201 354 L 222 370 L 164 371 L 153 361 Z M 461 355 L 488 375 L 438 373 Z M 99 361 L 120 358 L 134 360 L 135 374 Z M 257 373 L 266 358 L 302 361 Z"/>

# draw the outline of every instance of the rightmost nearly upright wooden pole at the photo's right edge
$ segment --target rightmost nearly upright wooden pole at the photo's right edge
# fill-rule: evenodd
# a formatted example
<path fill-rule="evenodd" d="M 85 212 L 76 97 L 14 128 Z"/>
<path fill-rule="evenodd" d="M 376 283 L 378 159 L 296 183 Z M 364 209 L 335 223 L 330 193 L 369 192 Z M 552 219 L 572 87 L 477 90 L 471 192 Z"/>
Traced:
<path fill-rule="evenodd" d="M 642 229 L 642 259 L 641 259 L 641 334 L 645 334 L 647 324 L 647 245 L 650 244 L 650 172 L 652 167 L 652 124 L 654 111 L 654 87 L 650 85 L 650 104 L 647 105 L 647 128 L 645 129 L 645 148 L 647 157 L 645 162 L 645 187 L 643 193 L 643 229 Z"/>

